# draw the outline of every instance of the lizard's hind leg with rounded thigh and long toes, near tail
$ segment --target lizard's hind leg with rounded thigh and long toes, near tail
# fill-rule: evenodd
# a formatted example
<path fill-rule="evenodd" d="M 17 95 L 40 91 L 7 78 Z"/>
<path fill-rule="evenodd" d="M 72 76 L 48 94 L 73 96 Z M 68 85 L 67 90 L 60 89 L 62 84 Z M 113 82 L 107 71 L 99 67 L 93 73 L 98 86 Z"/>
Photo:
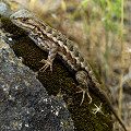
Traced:
<path fill-rule="evenodd" d="M 85 98 L 85 93 L 87 94 L 88 98 L 90 98 L 90 103 L 92 103 L 92 97 L 90 96 L 88 93 L 88 79 L 87 79 L 87 73 L 85 71 L 78 71 L 75 74 L 75 79 L 78 81 L 78 83 L 80 84 L 78 87 L 81 88 L 80 92 L 78 93 L 83 93 L 83 97 L 82 97 L 82 102 L 80 104 L 80 106 L 83 104 L 84 98 Z"/>

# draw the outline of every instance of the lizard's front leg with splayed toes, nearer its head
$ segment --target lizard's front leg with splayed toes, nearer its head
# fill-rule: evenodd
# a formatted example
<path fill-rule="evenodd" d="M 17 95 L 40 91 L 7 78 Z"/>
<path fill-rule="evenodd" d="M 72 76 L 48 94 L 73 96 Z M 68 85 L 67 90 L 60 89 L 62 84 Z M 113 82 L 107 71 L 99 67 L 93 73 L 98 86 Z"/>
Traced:
<path fill-rule="evenodd" d="M 40 62 L 45 63 L 45 66 L 39 71 L 46 71 L 47 68 L 50 68 L 50 71 L 52 72 L 52 62 L 56 58 L 56 55 L 58 52 L 58 46 L 55 43 L 49 44 L 49 52 L 47 60 L 43 59 Z"/>

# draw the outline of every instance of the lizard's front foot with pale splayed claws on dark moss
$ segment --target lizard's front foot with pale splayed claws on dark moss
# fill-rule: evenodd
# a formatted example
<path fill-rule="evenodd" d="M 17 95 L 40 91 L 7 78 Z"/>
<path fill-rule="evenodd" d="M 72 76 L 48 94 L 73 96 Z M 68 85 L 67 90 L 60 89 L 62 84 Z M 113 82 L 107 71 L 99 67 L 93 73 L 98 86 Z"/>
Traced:
<path fill-rule="evenodd" d="M 45 72 L 47 70 L 47 68 L 50 68 L 50 71 L 52 72 L 52 63 L 49 60 L 43 59 L 39 62 L 45 63 L 45 66 L 39 71 Z"/>

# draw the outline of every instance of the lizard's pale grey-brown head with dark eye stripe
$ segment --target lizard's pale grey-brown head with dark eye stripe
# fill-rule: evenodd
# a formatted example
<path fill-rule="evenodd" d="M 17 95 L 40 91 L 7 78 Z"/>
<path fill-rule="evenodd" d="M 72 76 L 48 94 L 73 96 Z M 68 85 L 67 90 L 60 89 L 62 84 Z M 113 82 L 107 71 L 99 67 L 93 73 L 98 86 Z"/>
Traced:
<path fill-rule="evenodd" d="M 36 21 L 39 21 L 38 17 L 36 19 L 36 16 L 27 10 L 20 10 L 15 12 L 10 16 L 10 20 L 13 24 L 26 32 L 31 32 L 35 25 L 37 25 Z"/>

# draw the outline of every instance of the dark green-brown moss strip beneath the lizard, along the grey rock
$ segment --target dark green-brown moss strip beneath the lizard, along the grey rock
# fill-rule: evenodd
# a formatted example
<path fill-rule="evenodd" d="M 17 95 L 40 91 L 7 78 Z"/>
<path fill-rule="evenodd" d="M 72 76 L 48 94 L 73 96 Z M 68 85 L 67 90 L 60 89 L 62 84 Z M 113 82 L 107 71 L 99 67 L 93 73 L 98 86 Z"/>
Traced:
<path fill-rule="evenodd" d="M 39 49 L 33 40 L 31 40 L 27 34 L 13 25 L 9 19 L 2 19 L 2 27 L 13 34 L 13 40 L 16 43 L 13 45 L 13 50 L 17 57 L 22 57 L 24 63 L 34 71 L 38 71 L 44 64 L 39 61 L 47 59 L 47 52 Z M 100 105 L 102 100 L 91 93 L 93 103 L 88 104 L 88 97 L 86 96 L 82 106 L 82 94 L 76 93 L 76 82 L 74 74 L 69 72 L 67 68 L 59 60 L 53 62 L 53 71 L 50 72 L 47 69 L 46 72 L 38 72 L 38 80 L 46 87 L 49 95 L 57 95 L 60 90 L 63 94 L 63 99 L 68 105 L 68 108 L 72 115 L 74 121 L 75 131 L 111 131 L 112 121 L 110 116 L 106 117 L 102 114 L 94 115 L 92 109 L 95 108 L 94 104 Z M 108 107 L 103 104 L 103 111 L 105 115 L 109 114 Z"/>

